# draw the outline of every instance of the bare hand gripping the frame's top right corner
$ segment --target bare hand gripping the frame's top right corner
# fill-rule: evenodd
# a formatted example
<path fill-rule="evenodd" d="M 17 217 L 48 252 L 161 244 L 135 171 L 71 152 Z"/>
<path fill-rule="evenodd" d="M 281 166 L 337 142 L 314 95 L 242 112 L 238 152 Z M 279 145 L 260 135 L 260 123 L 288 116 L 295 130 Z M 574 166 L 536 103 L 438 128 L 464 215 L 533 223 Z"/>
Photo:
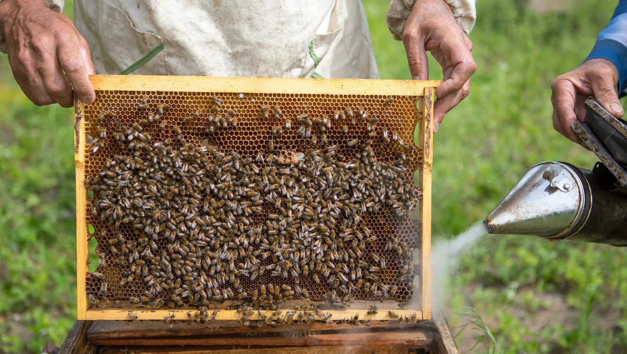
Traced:
<path fill-rule="evenodd" d="M 445 114 L 470 93 L 470 76 L 477 69 L 472 42 L 455 21 L 450 6 L 443 0 L 414 3 L 403 31 L 409 71 L 414 80 L 429 79 L 426 51 L 442 66 L 444 83 L 435 91 L 434 130 Z"/>

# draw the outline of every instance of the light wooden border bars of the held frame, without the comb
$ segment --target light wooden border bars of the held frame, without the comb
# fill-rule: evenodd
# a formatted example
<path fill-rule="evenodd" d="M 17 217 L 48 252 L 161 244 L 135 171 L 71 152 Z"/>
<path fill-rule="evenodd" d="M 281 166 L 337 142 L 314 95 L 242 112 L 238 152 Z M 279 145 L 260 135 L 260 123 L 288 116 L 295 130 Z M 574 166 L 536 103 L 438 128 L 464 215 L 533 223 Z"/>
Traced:
<path fill-rule="evenodd" d="M 90 76 L 93 87 L 99 90 L 122 91 L 187 91 L 187 92 L 255 92 L 255 93 L 314 93 L 331 95 L 402 95 L 422 96 L 418 112 L 419 147 L 423 150 L 423 167 L 419 180 L 423 189 L 419 219 L 422 225 L 421 245 L 421 307 L 420 310 L 380 308 L 376 315 L 367 315 L 367 308 L 328 310 L 332 320 L 350 319 L 356 313 L 362 320 L 389 320 L 387 310 L 399 316 L 416 315 L 417 320 L 431 318 L 431 170 L 433 164 L 433 98 L 435 87 L 441 81 L 357 80 L 357 79 L 298 79 L 298 78 L 221 78 L 208 76 Z M 75 97 L 75 167 L 76 167 L 76 286 L 78 320 L 128 320 L 129 311 L 138 320 L 163 320 L 174 315 L 175 320 L 186 320 L 187 309 L 149 310 L 142 308 L 88 309 L 85 274 L 88 273 L 88 230 L 85 222 L 85 122 L 84 104 Z M 250 316 L 256 320 L 257 314 Z M 320 320 L 320 318 L 317 319 Z M 221 310 L 218 320 L 236 320 L 236 310 Z"/>

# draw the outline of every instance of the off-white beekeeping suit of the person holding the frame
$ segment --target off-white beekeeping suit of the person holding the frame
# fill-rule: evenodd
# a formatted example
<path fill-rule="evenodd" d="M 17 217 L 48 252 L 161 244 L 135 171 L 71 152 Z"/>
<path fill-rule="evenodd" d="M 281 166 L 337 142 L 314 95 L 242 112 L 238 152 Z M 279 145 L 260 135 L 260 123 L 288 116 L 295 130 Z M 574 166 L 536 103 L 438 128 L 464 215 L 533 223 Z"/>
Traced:
<path fill-rule="evenodd" d="M 475 0 L 445 1 L 468 33 Z M 55 11 L 64 2 L 47 0 Z M 413 3 L 390 1 L 387 22 L 396 38 Z M 164 41 L 135 74 L 378 77 L 359 0 L 75 0 L 75 24 L 99 74 L 120 73 Z"/>

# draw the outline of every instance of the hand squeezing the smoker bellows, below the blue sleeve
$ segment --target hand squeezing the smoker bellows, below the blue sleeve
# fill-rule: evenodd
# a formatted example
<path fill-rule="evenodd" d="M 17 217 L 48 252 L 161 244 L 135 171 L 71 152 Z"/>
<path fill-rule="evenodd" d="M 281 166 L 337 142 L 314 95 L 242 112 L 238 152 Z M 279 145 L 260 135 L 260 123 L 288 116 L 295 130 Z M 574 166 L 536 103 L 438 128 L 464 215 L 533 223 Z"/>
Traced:
<path fill-rule="evenodd" d="M 551 85 L 555 130 L 574 142 L 581 142 L 571 124 L 586 117 L 584 102 L 588 96 L 593 96 L 612 115 L 623 117 L 618 78 L 616 66 L 602 58 L 588 60 L 575 70 L 557 76 Z"/>

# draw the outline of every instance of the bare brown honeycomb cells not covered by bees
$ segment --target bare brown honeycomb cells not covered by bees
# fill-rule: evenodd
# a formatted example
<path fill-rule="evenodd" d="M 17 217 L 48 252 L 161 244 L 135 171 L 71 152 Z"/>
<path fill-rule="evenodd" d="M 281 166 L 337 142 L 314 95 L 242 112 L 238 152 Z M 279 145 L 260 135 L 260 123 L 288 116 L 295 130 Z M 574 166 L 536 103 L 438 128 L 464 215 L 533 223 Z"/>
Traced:
<path fill-rule="evenodd" d="M 222 100 L 221 107 L 223 110 L 234 110 L 238 112 L 237 126 L 217 130 L 214 133 L 203 132 L 206 127 L 208 107 L 213 103 L 212 97 L 218 97 Z M 385 95 L 322 95 L 322 94 L 271 94 L 271 93 L 220 93 L 220 92 L 176 92 L 176 91 L 97 91 L 97 100 L 92 105 L 85 105 L 83 117 L 85 120 L 86 147 L 85 147 L 85 175 L 95 175 L 105 168 L 105 161 L 115 155 L 128 154 L 118 148 L 114 143 L 109 143 L 96 152 L 93 152 L 92 137 L 97 135 L 95 131 L 95 117 L 103 112 L 114 112 L 116 117 L 105 119 L 100 122 L 100 128 L 106 129 L 109 133 L 113 131 L 115 124 L 121 122 L 123 125 L 134 125 L 145 118 L 145 111 L 137 109 L 137 103 L 140 100 L 146 100 L 147 105 L 164 105 L 171 107 L 164 113 L 161 122 L 164 123 L 163 128 L 153 124 L 145 127 L 145 132 L 150 133 L 154 141 L 162 141 L 167 138 L 174 139 L 172 130 L 179 127 L 187 143 L 196 145 L 213 145 L 217 146 L 222 152 L 238 152 L 242 158 L 255 156 L 260 151 L 268 149 L 268 142 L 273 140 L 275 150 L 280 155 L 280 162 L 285 163 L 295 161 L 298 153 L 305 152 L 310 148 L 319 148 L 314 145 L 312 139 L 303 138 L 297 134 L 298 125 L 293 124 L 291 128 L 283 128 L 283 134 L 279 137 L 271 135 L 271 129 L 277 125 L 281 125 L 283 120 L 276 119 L 270 113 L 268 118 L 264 118 L 260 113 L 262 107 L 280 107 L 283 115 L 286 117 L 296 117 L 307 113 L 310 117 L 333 116 L 335 112 L 345 111 L 347 108 L 356 110 L 361 107 L 371 116 L 378 117 L 379 122 L 376 125 L 377 139 L 372 145 L 375 157 L 381 162 L 392 162 L 396 157 L 396 148 L 392 144 L 384 143 L 378 137 L 381 135 L 382 129 L 387 128 L 390 132 L 398 133 L 407 143 L 414 141 L 414 129 L 419 122 L 419 111 L 416 108 L 421 96 L 385 96 Z M 184 122 L 186 117 L 190 117 L 194 112 L 201 112 L 198 118 L 192 122 Z M 368 139 L 366 122 L 359 120 L 356 125 L 350 125 L 350 118 L 340 118 L 332 121 L 330 129 L 327 130 L 326 136 L 329 145 L 337 145 L 338 152 L 344 154 L 349 159 L 356 156 L 357 150 L 350 148 L 347 142 L 357 139 L 365 141 Z M 348 133 L 342 132 L 344 126 L 349 126 Z M 319 132 L 312 132 L 318 135 Z M 320 138 L 318 138 L 320 140 Z M 407 180 L 414 179 L 414 172 L 421 168 L 422 152 L 414 150 L 408 152 L 412 157 L 411 162 L 406 163 L 407 172 L 404 178 Z M 265 167 L 268 163 L 260 164 Z M 88 192 L 87 190 L 85 191 Z M 89 193 L 87 195 L 92 195 Z M 96 195 L 97 197 L 97 195 Z M 98 293 L 102 286 L 102 282 L 108 283 L 107 298 L 112 301 L 126 302 L 129 297 L 141 296 L 147 287 L 139 280 L 120 286 L 120 279 L 124 269 L 120 269 L 114 263 L 113 255 L 108 251 L 107 245 L 113 236 L 113 227 L 106 221 L 102 221 L 99 217 L 92 217 L 90 208 L 92 207 L 93 197 L 86 199 L 85 215 L 86 224 L 93 226 L 93 232 L 88 237 L 95 237 L 98 242 L 96 254 L 101 255 L 100 264 L 97 268 L 98 273 L 102 277 L 95 277 L 92 273 L 86 275 L 87 289 L 86 293 Z M 253 222 L 265 222 L 266 217 L 255 216 Z M 377 212 L 366 214 L 364 224 L 374 233 L 377 234 L 378 240 L 372 244 L 368 244 L 364 253 L 371 252 L 377 254 L 386 254 L 383 252 L 388 237 L 398 237 L 399 241 L 408 242 L 409 246 L 419 248 L 421 245 L 421 225 L 414 217 L 399 217 L 389 209 L 381 209 Z M 88 227 L 92 229 L 92 227 Z M 137 240 L 142 237 L 137 231 L 130 226 L 121 226 L 115 232 L 121 232 L 127 240 Z M 164 244 L 159 244 L 164 247 Z M 251 246 L 252 247 L 252 246 Z M 387 252 L 389 254 L 389 252 Z M 386 281 L 388 286 L 398 286 L 398 291 L 390 297 L 396 301 L 410 301 L 414 291 L 418 291 L 416 287 L 411 289 L 409 282 L 398 282 L 399 271 L 403 266 L 408 266 L 412 259 L 411 256 L 389 255 L 386 257 L 387 268 L 382 274 L 382 279 Z M 272 261 L 270 258 L 262 261 L 261 265 L 265 266 Z M 414 264 L 413 274 L 420 274 L 419 264 Z M 414 276 L 412 274 L 412 277 Z M 246 293 L 251 294 L 254 289 L 258 288 L 258 284 L 273 283 L 278 285 L 292 285 L 293 279 L 283 279 L 280 277 L 271 277 L 270 272 L 266 272 L 263 276 L 257 278 L 254 282 L 248 278 L 241 279 L 241 285 Z M 414 282 L 419 283 L 419 282 Z M 324 281 L 321 284 L 314 283 L 311 275 L 300 276 L 300 286 L 306 289 L 312 301 L 323 301 L 324 294 L 330 290 L 330 285 Z M 420 292 L 418 291 L 418 294 Z M 169 298 L 171 292 L 165 290 L 161 296 Z M 361 289 L 354 294 L 356 299 L 369 299 L 366 293 Z M 100 307 L 103 307 L 102 305 Z"/>

